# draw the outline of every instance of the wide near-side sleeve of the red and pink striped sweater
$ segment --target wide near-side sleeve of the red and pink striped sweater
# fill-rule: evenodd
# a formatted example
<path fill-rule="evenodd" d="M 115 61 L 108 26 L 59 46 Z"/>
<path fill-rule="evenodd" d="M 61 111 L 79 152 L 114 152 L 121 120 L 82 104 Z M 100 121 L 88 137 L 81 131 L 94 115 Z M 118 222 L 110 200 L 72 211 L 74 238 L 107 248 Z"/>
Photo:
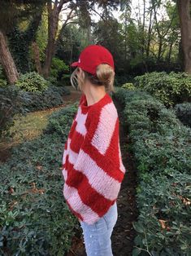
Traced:
<path fill-rule="evenodd" d="M 89 115 L 89 128 L 73 168 L 81 174 L 78 185 L 83 221 L 95 223 L 113 205 L 124 179 L 119 147 L 119 118 L 114 104 Z"/>

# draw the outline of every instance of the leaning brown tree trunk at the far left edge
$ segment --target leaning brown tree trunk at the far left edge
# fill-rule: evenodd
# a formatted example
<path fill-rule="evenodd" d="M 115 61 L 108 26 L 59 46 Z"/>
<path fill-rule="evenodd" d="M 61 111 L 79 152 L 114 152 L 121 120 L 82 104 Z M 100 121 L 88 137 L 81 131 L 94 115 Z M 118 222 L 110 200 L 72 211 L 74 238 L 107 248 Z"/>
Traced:
<path fill-rule="evenodd" d="M 4 68 L 7 80 L 12 85 L 17 82 L 19 74 L 17 72 L 15 62 L 11 56 L 11 52 L 7 46 L 7 38 L 0 30 L 0 63 Z"/>

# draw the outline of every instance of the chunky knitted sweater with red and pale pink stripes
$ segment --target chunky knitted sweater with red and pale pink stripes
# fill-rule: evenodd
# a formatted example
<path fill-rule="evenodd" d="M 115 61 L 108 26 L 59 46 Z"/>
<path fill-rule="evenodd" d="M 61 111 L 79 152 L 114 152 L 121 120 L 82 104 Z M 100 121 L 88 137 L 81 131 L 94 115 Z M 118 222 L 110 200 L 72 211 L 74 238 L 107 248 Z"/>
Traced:
<path fill-rule="evenodd" d="M 97 222 L 117 200 L 125 171 L 111 96 L 88 106 L 82 94 L 63 151 L 63 196 L 72 214 Z"/>

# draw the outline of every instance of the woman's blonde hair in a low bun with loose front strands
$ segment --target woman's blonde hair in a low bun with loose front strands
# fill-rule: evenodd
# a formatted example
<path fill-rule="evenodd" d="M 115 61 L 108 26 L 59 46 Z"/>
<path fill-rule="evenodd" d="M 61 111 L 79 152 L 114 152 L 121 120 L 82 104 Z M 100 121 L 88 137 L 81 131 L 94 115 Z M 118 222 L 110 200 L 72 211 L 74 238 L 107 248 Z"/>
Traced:
<path fill-rule="evenodd" d="M 76 90 L 82 90 L 86 80 L 89 80 L 95 86 L 105 86 L 106 92 L 115 92 L 114 88 L 115 71 L 108 64 L 99 64 L 96 69 L 96 75 L 82 70 L 82 75 L 76 68 L 71 75 L 72 86 Z"/>

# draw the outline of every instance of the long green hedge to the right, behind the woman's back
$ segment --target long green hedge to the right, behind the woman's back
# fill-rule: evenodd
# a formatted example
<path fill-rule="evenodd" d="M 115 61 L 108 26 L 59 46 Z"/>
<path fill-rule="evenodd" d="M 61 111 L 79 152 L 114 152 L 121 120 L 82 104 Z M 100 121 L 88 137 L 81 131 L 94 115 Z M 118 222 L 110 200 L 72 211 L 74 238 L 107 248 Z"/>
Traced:
<path fill-rule="evenodd" d="M 191 130 L 141 91 L 118 89 L 137 163 L 139 217 L 132 255 L 191 254 Z M 147 251 L 147 252 L 146 252 Z"/>

